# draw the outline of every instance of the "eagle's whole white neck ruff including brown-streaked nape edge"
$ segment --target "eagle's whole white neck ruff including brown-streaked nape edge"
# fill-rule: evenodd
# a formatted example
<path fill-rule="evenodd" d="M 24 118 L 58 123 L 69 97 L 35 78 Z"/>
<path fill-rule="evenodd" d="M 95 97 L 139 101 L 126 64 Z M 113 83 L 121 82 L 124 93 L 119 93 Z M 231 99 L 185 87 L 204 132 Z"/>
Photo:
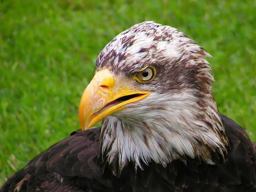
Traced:
<path fill-rule="evenodd" d="M 216 103 L 211 94 L 198 102 L 198 97 L 190 93 L 187 90 L 161 97 L 151 93 L 148 103 L 140 103 L 136 110 L 128 107 L 105 118 L 100 136 L 101 161 L 115 164 L 120 171 L 128 162 L 142 169 L 142 162 L 166 166 L 174 159 L 185 161 L 187 157 L 215 164 L 216 154 L 224 157 L 228 145 Z M 159 105 L 150 105 L 153 101 Z"/>

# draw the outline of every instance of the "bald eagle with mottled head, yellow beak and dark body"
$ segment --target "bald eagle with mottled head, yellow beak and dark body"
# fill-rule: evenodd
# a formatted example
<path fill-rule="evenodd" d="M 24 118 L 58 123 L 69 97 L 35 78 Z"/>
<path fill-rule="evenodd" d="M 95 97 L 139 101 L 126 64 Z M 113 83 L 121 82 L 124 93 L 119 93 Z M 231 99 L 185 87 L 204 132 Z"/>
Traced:
<path fill-rule="evenodd" d="M 220 115 L 208 53 L 154 22 L 100 52 L 75 131 L 1 192 L 255 192 L 256 145 Z M 101 127 L 93 127 L 102 120 Z"/>

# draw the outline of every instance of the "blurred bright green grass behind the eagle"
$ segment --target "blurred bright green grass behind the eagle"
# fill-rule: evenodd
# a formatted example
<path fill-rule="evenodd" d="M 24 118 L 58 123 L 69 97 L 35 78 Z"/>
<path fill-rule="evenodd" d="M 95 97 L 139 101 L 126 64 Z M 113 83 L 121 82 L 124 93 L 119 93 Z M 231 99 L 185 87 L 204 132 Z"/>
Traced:
<path fill-rule="evenodd" d="M 256 1 L 0 0 L 0 186 L 79 129 L 79 99 L 115 35 L 153 20 L 213 57 L 221 113 L 256 141 Z"/>

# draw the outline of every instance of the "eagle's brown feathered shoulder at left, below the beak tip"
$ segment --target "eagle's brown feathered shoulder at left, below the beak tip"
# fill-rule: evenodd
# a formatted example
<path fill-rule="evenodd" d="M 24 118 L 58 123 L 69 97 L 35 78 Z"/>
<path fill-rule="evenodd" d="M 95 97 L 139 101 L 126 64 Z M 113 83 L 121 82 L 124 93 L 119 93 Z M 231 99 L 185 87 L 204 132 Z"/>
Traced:
<path fill-rule="evenodd" d="M 0 192 L 82 191 L 107 188 L 97 165 L 100 127 L 77 130 L 13 174 Z"/>

